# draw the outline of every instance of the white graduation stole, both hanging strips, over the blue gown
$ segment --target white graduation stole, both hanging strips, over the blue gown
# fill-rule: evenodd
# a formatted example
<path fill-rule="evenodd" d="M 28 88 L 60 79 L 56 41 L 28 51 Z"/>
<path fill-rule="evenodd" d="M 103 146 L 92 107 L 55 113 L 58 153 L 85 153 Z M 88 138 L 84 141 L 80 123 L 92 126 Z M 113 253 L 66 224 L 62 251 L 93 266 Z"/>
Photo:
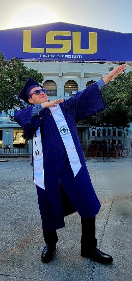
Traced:
<path fill-rule="evenodd" d="M 78 157 L 73 139 L 66 123 L 65 117 L 59 105 L 57 107 L 51 107 L 50 111 L 58 127 L 60 136 L 63 140 L 66 152 L 69 158 L 70 166 L 74 176 L 82 167 L 80 159 Z M 33 157 L 34 157 L 34 183 L 41 189 L 45 189 L 44 186 L 44 166 L 43 166 L 43 151 L 41 142 L 40 128 L 36 131 L 33 137 Z"/>

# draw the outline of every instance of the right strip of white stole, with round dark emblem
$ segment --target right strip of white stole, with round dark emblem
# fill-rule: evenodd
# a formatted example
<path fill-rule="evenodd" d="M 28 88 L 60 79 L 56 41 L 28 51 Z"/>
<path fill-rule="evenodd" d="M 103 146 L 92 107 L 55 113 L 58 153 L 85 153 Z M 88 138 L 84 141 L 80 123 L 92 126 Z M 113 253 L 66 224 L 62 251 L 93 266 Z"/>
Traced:
<path fill-rule="evenodd" d="M 80 162 L 80 158 L 78 157 L 75 145 L 73 143 L 73 139 L 68 125 L 66 123 L 65 117 L 59 104 L 57 105 L 57 107 L 51 107 L 50 111 L 57 124 L 59 133 L 66 148 L 71 169 L 73 171 L 74 176 L 76 176 L 82 165 Z"/>

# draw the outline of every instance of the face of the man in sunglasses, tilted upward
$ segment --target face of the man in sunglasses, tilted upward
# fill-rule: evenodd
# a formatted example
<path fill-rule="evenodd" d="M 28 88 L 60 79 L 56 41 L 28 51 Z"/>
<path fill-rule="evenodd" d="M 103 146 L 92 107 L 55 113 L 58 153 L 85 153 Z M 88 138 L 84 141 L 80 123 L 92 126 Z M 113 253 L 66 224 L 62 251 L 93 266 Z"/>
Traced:
<path fill-rule="evenodd" d="M 35 87 L 30 91 L 30 95 L 32 95 L 31 98 L 29 98 L 29 102 L 36 105 L 36 104 L 40 104 L 40 103 L 44 103 L 48 101 L 48 97 L 46 95 L 45 92 L 40 92 L 39 95 L 37 95 L 37 93 L 35 93 L 35 90 L 41 90 L 41 87 Z"/>

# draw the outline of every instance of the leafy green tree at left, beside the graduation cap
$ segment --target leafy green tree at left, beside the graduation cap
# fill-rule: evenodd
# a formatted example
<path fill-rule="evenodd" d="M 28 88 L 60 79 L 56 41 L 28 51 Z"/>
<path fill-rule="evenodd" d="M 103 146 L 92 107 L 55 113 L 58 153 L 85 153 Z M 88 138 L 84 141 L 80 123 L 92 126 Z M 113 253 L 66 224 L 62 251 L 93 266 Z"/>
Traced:
<path fill-rule="evenodd" d="M 24 103 L 17 98 L 18 93 L 29 77 L 42 83 L 43 76 L 32 68 L 24 66 L 18 58 L 5 60 L 0 52 L 0 112 L 9 109 L 24 108 Z M 11 117 L 11 116 L 10 116 Z"/>

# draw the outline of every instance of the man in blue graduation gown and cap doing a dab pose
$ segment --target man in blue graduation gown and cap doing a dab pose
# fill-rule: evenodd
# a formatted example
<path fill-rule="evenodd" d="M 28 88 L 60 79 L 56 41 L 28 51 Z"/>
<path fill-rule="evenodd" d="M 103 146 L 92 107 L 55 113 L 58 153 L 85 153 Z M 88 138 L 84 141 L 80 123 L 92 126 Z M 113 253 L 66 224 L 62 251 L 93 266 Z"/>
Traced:
<path fill-rule="evenodd" d="M 14 116 L 33 143 L 33 174 L 37 188 L 46 246 L 42 262 L 50 262 L 58 241 L 57 229 L 64 227 L 64 216 L 81 216 L 81 255 L 110 264 L 111 255 L 96 248 L 95 216 L 100 203 L 86 167 L 75 123 L 105 109 L 100 89 L 123 72 L 120 65 L 103 79 L 77 92 L 68 100 L 48 101 L 46 90 L 29 79 L 18 97 L 29 102 Z"/>

